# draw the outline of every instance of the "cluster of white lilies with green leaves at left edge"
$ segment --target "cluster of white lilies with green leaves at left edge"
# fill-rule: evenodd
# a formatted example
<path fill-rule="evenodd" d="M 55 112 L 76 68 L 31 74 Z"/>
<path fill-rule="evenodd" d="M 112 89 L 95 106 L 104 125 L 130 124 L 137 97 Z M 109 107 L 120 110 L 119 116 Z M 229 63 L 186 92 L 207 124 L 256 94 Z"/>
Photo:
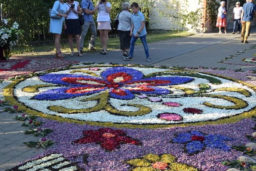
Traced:
<path fill-rule="evenodd" d="M 22 35 L 23 30 L 19 30 L 18 23 L 14 22 L 12 26 L 8 25 L 10 19 L 3 19 L 2 26 L 0 27 L 0 46 L 7 46 L 12 49 L 17 45 L 19 35 Z"/>

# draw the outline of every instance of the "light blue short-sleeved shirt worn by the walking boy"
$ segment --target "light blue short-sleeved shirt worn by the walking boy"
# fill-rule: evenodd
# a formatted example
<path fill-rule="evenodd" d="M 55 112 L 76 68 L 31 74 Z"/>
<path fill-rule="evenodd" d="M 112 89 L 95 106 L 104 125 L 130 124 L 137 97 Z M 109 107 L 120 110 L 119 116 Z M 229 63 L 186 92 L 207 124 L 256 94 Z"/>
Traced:
<path fill-rule="evenodd" d="M 145 16 L 139 10 L 137 15 L 135 15 L 135 13 L 132 14 L 131 20 L 132 20 L 132 23 L 134 25 L 134 29 L 133 29 L 132 33 L 133 33 L 133 35 L 135 35 L 139 31 L 139 29 L 141 28 L 141 22 L 143 22 L 143 21 L 145 22 Z M 138 37 L 141 37 L 141 36 L 146 35 L 146 34 L 147 34 L 146 26 L 145 26 L 145 23 L 144 23 L 144 28 L 140 31 L 140 34 L 138 34 Z"/>

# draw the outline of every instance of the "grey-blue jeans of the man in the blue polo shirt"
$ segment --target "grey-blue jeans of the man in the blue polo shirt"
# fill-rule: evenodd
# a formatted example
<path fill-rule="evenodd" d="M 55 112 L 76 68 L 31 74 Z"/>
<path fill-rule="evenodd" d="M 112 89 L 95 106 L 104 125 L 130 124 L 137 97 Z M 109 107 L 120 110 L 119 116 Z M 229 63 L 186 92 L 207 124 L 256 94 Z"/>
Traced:
<path fill-rule="evenodd" d="M 80 40 L 81 40 L 80 50 L 82 50 L 82 51 L 83 51 L 83 46 L 84 46 L 84 38 L 87 34 L 88 28 L 90 28 L 90 31 L 91 31 L 91 40 L 89 42 L 89 49 L 94 48 L 94 45 L 95 45 L 95 41 L 96 41 L 96 37 L 97 37 L 97 31 L 96 31 L 95 23 L 94 22 L 87 22 L 86 20 L 84 20 L 84 25 L 82 27 L 82 33 L 81 33 L 81 36 L 80 36 Z"/>

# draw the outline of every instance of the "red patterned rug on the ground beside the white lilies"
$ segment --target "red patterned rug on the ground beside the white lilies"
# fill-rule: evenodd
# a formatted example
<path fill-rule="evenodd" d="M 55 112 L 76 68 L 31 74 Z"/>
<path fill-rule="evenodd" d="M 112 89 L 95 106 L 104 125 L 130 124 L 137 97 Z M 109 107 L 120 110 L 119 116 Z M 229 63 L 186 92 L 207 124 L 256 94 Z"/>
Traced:
<path fill-rule="evenodd" d="M 0 60 L 0 79 L 27 74 L 34 71 L 57 68 L 73 63 L 78 62 L 55 58 L 11 57 L 9 60 Z"/>

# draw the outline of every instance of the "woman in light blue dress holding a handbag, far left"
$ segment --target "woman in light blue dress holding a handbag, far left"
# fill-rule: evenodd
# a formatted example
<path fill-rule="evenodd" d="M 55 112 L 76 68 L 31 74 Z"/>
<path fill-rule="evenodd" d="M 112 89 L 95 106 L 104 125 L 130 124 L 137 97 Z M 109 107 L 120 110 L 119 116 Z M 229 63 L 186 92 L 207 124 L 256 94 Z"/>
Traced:
<path fill-rule="evenodd" d="M 59 13 L 58 10 L 63 10 L 63 13 Z M 55 1 L 54 5 L 53 5 L 53 9 L 51 12 L 52 16 L 62 16 L 61 19 L 54 19 L 51 18 L 50 20 L 50 32 L 54 33 L 55 36 L 55 48 L 56 48 L 56 58 L 65 58 L 65 55 L 62 54 L 61 50 L 60 50 L 60 34 L 62 31 L 62 23 L 64 24 L 64 28 L 66 29 L 67 26 L 65 24 L 65 18 L 68 17 L 68 15 L 66 15 L 65 13 L 67 12 L 66 10 L 66 4 L 63 3 L 63 0 L 58 0 Z"/>

